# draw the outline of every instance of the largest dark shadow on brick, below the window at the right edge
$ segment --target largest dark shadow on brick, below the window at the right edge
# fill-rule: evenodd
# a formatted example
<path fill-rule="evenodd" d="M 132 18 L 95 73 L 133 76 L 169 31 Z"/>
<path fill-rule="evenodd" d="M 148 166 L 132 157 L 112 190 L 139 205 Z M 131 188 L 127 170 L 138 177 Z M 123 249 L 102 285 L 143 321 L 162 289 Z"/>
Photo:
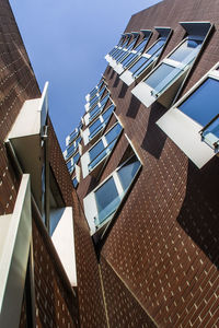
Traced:
<path fill-rule="evenodd" d="M 177 222 L 219 269 L 218 185 L 218 157 L 215 156 L 201 169 L 189 162 L 186 196 Z"/>

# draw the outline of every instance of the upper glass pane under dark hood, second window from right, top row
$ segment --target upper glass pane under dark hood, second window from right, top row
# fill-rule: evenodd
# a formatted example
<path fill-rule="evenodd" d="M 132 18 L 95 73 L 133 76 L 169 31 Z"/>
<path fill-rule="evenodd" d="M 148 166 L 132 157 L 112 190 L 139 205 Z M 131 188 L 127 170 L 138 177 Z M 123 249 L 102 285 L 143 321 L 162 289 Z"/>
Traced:
<path fill-rule="evenodd" d="M 169 58 L 180 62 L 187 62 L 188 60 L 192 60 L 192 58 L 195 58 L 201 43 L 203 42 L 200 40 L 187 39 Z"/>

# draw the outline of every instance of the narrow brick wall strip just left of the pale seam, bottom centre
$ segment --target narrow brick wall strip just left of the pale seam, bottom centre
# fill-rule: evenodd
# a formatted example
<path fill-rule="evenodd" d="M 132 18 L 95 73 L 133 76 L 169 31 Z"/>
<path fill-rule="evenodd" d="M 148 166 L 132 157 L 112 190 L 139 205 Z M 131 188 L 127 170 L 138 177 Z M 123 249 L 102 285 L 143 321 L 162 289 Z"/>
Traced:
<path fill-rule="evenodd" d="M 96 255 L 76 194 L 73 199 L 80 324 L 84 328 L 104 328 L 107 326 Z"/>

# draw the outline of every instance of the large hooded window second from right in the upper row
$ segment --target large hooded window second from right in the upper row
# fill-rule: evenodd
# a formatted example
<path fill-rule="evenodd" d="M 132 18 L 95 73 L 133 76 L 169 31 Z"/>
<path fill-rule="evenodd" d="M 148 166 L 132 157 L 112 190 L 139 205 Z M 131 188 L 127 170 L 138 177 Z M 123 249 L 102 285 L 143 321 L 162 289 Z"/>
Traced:
<path fill-rule="evenodd" d="M 171 105 L 211 28 L 209 22 L 187 22 L 181 25 L 188 36 L 131 91 L 147 107 L 155 101 L 165 107 Z"/>

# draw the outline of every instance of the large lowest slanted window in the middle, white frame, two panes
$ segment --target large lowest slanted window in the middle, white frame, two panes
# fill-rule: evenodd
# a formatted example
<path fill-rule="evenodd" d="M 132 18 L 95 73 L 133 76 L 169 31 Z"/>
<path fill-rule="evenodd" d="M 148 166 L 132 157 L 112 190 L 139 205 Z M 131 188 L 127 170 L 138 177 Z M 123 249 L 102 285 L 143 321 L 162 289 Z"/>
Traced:
<path fill-rule="evenodd" d="M 140 167 L 138 157 L 131 155 L 83 199 L 85 216 L 94 242 L 99 242 L 102 237 Z"/>

